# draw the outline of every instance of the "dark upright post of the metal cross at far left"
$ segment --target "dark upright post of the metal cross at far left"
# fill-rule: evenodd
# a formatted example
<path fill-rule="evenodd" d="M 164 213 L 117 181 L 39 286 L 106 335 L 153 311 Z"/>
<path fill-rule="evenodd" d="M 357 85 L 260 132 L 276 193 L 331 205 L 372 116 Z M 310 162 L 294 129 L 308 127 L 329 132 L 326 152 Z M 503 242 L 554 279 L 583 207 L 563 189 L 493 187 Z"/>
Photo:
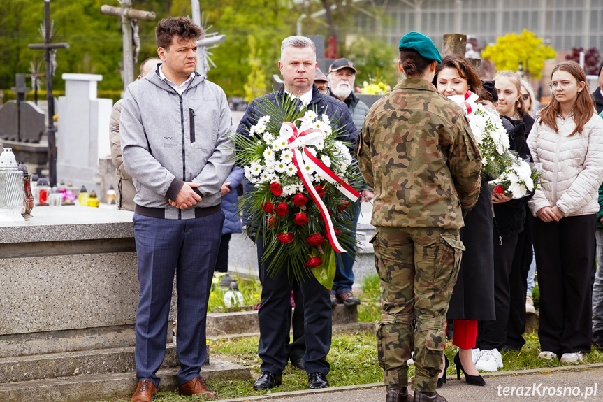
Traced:
<path fill-rule="evenodd" d="M 50 0 L 44 0 L 44 42 L 50 44 Z M 46 100 L 48 101 L 48 181 L 50 187 L 57 185 L 57 143 L 55 138 L 55 97 L 52 96 L 52 66 L 50 65 L 50 49 L 44 50 L 44 59 L 46 61 Z"/>

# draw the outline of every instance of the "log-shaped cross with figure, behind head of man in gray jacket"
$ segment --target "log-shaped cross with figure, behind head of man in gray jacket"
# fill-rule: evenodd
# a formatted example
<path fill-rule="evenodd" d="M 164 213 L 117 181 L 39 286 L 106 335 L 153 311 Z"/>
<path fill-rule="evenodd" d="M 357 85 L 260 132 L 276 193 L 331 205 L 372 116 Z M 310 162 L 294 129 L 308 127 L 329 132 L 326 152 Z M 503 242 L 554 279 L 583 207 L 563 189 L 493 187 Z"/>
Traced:
<path fill-rule="evenodd" d="M 121 7 L 101 6 L 101 14 L 113 15 L 122 19 L 124 40 L 122 82 L 124 83 L 125 92 L 126 87 L 134 80 L 134 64 L 138 62 L 138 50 L 140 49 L 138 20 L 154 21 L 155 13 L 131 8 L 132 0 L 119 0 L 119 3 Z M 136 53 L 133 52 L 133 43 L 136 43 Z"/>

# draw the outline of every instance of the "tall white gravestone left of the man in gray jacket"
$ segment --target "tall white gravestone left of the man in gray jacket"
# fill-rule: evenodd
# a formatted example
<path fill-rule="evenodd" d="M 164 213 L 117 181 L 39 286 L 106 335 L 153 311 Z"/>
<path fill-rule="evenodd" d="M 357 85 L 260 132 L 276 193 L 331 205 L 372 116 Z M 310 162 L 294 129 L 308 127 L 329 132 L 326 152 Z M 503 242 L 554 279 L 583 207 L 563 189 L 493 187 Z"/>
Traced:
<path fill-rule="evenodd" d="M 96 98 L 103 76 L 63 74 L 65 96 L 59 98 L 57 178 L 99 189 L 99 158 L 111 155 L 109 120 L 113 101 Z"/>

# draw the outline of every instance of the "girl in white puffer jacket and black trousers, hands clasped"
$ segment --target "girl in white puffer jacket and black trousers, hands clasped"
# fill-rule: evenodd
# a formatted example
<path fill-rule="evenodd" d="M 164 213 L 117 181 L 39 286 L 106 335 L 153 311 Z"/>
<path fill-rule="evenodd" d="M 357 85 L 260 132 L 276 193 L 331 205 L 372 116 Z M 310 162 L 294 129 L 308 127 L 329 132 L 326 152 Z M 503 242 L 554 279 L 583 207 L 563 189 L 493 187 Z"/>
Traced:
<path fill-rule="evenodd" d="M 576 62 L 553 69 L 551 103 L 528 146 L 542 163 L 542 190 L 529 202 L 538 283 L 539 357 L 577 363 L 590 352 L 590 268 L 598 189 L 603 182 L 603 120 Z"/>

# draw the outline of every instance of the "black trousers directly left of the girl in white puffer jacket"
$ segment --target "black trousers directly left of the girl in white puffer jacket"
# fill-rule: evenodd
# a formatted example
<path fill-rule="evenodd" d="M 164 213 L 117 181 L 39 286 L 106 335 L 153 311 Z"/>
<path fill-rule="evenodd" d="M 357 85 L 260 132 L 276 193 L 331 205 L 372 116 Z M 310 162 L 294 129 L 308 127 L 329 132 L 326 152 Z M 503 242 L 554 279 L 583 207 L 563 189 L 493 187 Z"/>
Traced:
<path fill-rule="evenodd" d="M 509 275 L 511 297 L 509 321 L 507 322 L 507 340 L 504 345 L 511 349 L 520 350 L 525 345 L 525 294 L 528 292 L 528 273 L 532 264 L 532 233 L 528 222 L 525 229 L 518 234 L 517 247 L 513 257 L 513 266 Z"/>

